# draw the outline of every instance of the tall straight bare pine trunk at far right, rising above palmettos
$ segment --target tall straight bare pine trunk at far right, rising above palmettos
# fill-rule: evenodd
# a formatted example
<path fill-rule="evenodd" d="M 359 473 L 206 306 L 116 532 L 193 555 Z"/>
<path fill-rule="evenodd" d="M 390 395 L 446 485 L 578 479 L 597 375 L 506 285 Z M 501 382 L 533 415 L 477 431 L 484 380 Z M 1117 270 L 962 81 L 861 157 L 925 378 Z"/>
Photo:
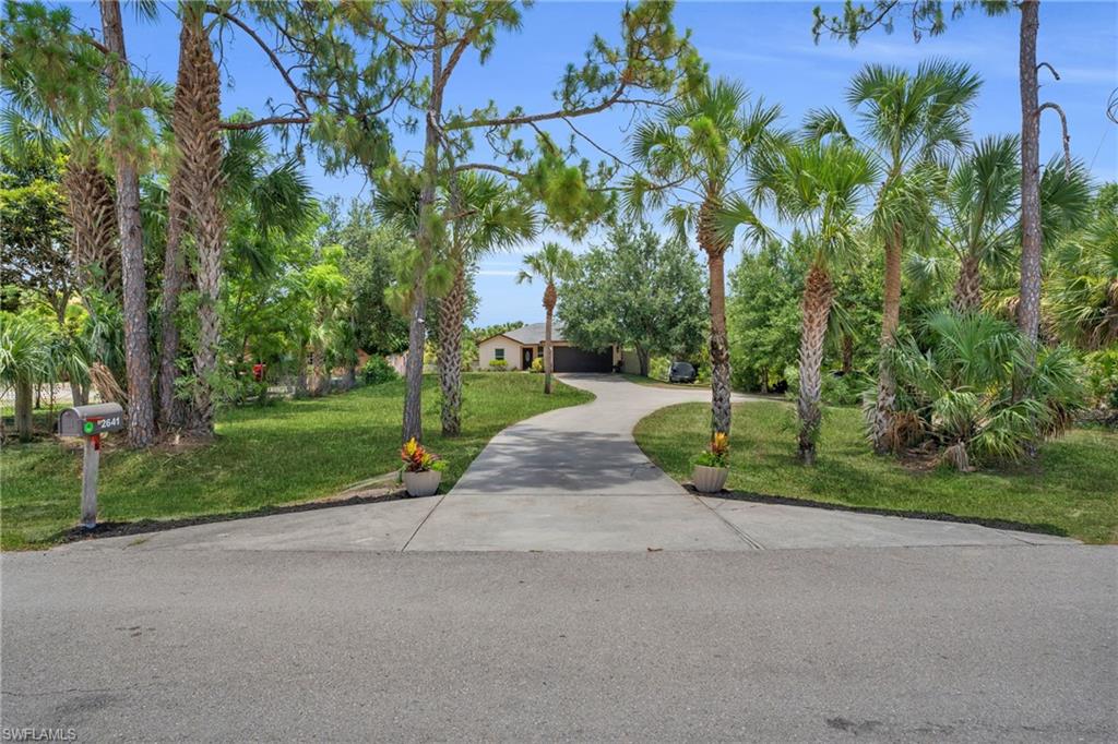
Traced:
<path fill-rule="evenodd" d="M 1021 302 L 1017 327 L 1033 344 L 1041 321 L 1040 112 L 1036 103 L 1039 0 L 1021 3 Z M 1030 361 L 1036 357 L 1029 351 Z"/>

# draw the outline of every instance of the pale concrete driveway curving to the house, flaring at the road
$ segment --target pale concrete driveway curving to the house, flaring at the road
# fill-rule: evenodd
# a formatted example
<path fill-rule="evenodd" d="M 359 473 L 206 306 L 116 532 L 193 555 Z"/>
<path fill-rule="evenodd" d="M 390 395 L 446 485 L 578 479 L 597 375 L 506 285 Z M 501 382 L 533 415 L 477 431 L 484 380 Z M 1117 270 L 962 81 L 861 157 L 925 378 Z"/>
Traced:
<path fill-rule="evenodd" d="M 563 381 L 596 399 L 509 427 L 448 495 L 206 524 L 60 550 L 644 552 L 1076 542 L 970 524 L 697 497 L 644 456 L 632 431 L 652 411 L 705 401 L 709 391 L 638 385 L 612 375 L 565 375 Z"/>

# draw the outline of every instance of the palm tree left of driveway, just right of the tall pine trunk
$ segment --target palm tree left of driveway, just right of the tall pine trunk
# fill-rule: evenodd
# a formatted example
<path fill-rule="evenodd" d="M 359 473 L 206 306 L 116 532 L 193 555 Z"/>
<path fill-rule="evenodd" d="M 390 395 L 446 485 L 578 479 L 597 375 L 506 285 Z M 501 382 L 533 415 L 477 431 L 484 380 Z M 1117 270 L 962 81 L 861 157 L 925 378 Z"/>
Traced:
<path fill-rule="evenodd" d="M 489 174 L 454 177 L 447 198 L 447 260 L 454 278 L 438 302 L 438 379 L 443 391 L 443 436 L 462 429 L 462 333 L 467 274 L 479 259 L 536 237 L 537 218 L 515 192 Z"/>

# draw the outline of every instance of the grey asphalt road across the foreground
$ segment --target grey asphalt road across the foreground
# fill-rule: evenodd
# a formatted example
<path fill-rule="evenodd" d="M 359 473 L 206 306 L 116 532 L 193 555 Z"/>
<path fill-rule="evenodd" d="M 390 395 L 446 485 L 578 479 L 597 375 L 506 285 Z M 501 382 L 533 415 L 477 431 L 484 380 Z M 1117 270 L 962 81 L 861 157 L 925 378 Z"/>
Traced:
<path fill-rule="evenodd" d="M 1118 549 L 4 554 L 77 741 L 1118 741 Z"/>

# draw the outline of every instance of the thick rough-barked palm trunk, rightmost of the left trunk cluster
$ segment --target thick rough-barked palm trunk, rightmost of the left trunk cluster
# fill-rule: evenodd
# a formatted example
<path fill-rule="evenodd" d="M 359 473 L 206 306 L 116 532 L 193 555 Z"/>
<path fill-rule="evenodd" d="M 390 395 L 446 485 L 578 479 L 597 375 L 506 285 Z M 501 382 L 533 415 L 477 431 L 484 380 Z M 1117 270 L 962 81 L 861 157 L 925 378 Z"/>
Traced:
<path fill-rule="evenodd" d="M 202 27 L 200 8 L 183 12 L 183 32 L 189 34 L 190 106 L 193 120 L 179 146 L 189 173 L 188 195 L 198 225 L 198 345 L 195 349 L 195 388 L 189 427 L 199 437 L 214 435 L 214 375 L 217 374 L 221 324 L 218 299 L 221 289 L 221 250 L 225 216 L 219 199 L 221 178 L 221 78 L 214 50 Z"/>

